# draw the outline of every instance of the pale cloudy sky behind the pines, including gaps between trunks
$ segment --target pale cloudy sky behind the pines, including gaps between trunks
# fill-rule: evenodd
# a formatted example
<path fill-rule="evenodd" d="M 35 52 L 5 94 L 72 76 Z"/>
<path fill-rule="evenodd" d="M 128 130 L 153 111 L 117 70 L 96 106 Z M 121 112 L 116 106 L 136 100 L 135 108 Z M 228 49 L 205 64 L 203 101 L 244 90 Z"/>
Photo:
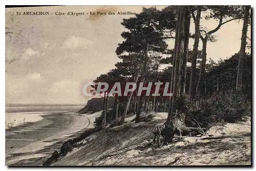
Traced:
<path fill-rule="evenodd" d="M 162 8 L 162 7 L 157 7 Z M 142 6 L 60 6 L 6 9 L 6 103 L 82 103 L 83 85 L 115 68 L 115 53 L 124 31 L 123 18 L 133 15 L 16 15 L 24 11 L 139 13 Z M 209 30 L 218 21 L 201 19 Z M 230 22 L 207 44 L 207 59 L 230 57 L 240 49 L 243 21 Z M 191 22 L 190 32 L 194 32 Z M 248 31 L 250 35 L 250 27 Z M 194 40 L 189 41 L 193 49 Z M 169 49 L 174 41 L 168 41 Z M 199 47 L 201 49 L 201 47 Z"/>

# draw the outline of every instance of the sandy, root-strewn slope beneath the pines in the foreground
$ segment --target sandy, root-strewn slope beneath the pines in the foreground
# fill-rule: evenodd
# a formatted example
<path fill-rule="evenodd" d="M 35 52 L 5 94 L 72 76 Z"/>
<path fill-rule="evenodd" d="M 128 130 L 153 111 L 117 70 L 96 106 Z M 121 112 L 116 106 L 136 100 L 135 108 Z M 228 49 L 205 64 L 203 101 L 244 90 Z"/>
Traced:
<path fill-rule="evenodd" d="M 157 113 L 149 122 L 126 123 L 102 130 L 80 142 L 53 165 L 250 165 L 251 121 L 212 126 L 204 136 L 186 137 L 152 147 L 153 130 L 165 122 Z"/>

